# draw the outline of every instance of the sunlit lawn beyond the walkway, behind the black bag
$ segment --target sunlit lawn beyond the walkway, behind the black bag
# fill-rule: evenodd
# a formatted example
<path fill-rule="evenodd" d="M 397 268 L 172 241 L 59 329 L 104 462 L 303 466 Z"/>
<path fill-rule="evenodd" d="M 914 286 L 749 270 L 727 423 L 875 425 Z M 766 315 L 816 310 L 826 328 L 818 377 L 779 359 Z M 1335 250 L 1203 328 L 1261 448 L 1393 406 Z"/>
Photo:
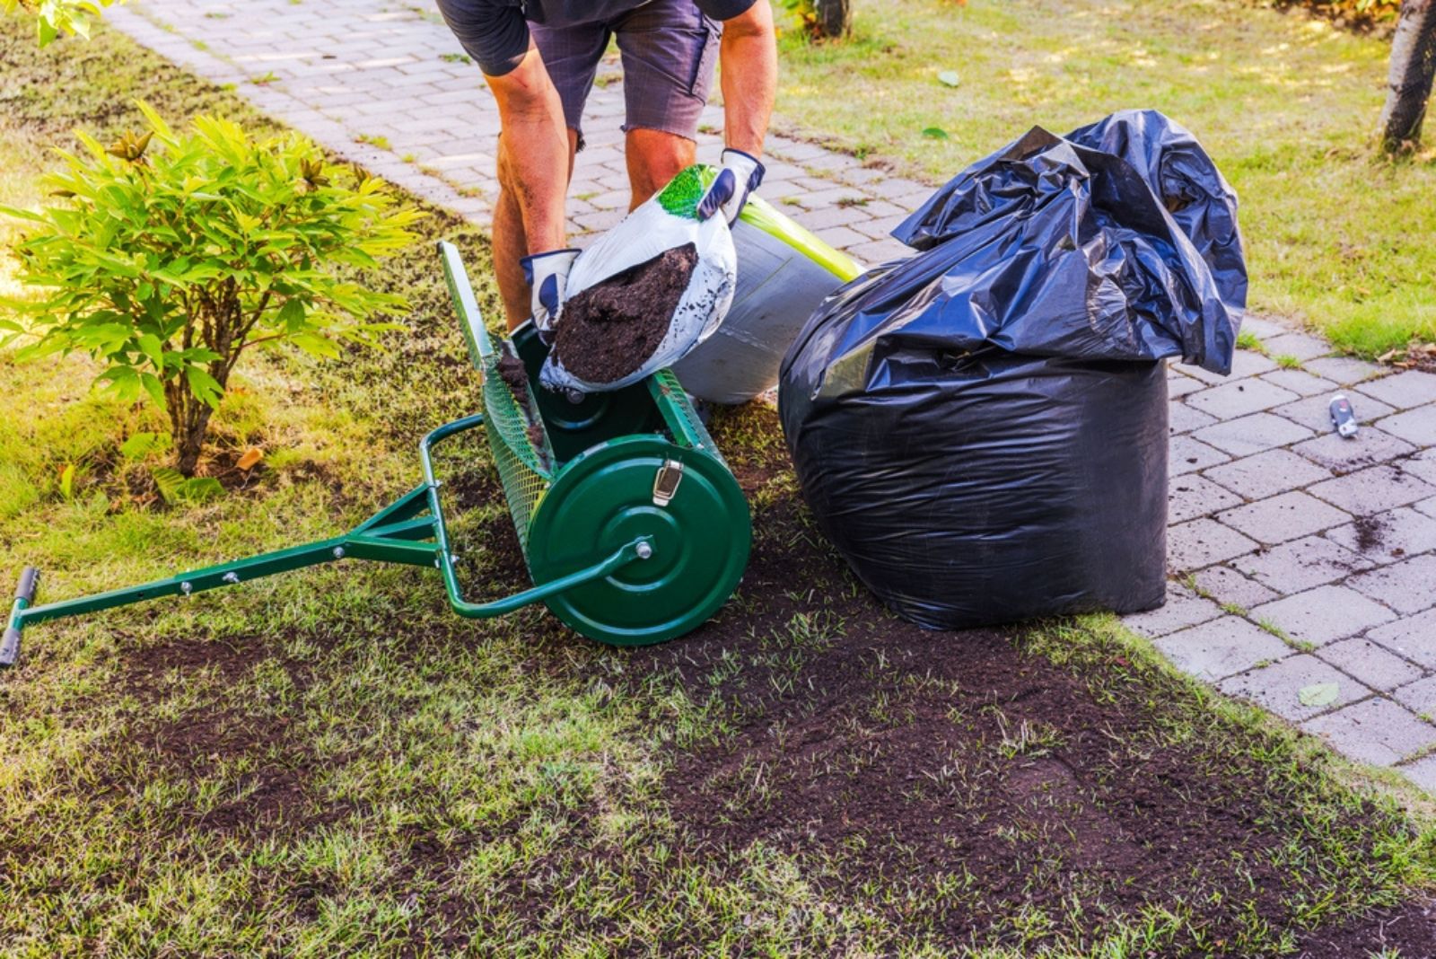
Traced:
<path fill-rule="evenodd" d="M 1420 240 L 1436 231 L 1436 152 L 1391 164 L 1369 144 L 1387 42 L 1241 0 L 853 7 L 847 43 L 785 33 L 787 123 L 943 182 L 1030 126 L 1160 109 L 1236 188 L 1254 309 L 1363 356 L 1436 342 L 1436 247 Z M 949 138 L 923 136 L 932 126 Z"/>

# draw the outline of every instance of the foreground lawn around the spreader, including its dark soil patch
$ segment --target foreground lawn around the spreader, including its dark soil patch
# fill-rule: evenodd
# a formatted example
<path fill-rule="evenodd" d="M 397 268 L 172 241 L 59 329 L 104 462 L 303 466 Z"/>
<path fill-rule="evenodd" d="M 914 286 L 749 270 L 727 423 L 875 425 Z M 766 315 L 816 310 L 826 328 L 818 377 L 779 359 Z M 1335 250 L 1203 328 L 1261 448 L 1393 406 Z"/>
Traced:
<path fill-rule="evenodd" d="M 3 202 L 39 198 L 70 128 L 136 126 L 136 93 L 260 122 L 109 30 L 40 53 L 0 20 L 0 62 Z M 461 244 L 497 317 L 485 240 L 424 230 Z M 89 393 L 83 359 L 0 352 L 0 576 L 116 587 L 408 490 L 418 436 L 472 412 L 477 378 L 429 240 L 382 283 L 414 304 L 391 352 L 241 366 L 202 465 L 267 454 L 205 505 L 164 507 L 158 461 L 121 457 L 154 411 Z M 1110 617 L 893 620 L 817 535 L 773 412 L 715 438 L 752 564 L 661 647 L 538 610 L 460 620 L 437 577 L 378 566 L 27 630 L 0 675 L 0 955 L 1364 956 L 1417 914 L 1436 834 L 1393 785 Z M 441 471 L 470 589 L 521 587 L 482 442 Z"/>

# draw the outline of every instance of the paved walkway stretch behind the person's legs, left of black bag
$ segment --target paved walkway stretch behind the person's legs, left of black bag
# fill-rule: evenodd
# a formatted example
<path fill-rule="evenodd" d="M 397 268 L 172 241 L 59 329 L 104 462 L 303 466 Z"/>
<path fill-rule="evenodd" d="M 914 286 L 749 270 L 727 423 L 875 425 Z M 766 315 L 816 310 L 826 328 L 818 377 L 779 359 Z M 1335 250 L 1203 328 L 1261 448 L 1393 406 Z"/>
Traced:
<path fill-rule="evenodd" d="M 478 225 L 490 223 L 498 112 L 432 4 L 136 0 L 109 11 L 109 20 L 197 73 L 234 83 L 335 154 Z M 617 223 L 629 202 L 622 70 L 605 62 L 599 78 L 569 191 L 579 245 Z M 721 108 L 704 112 L 699 159 L 718 159 L 722 122 Z M 781 134 L 768 139 L 767 152 L 763 195 L 780 210 L 860 260 L 909 253 L 887 230 L 931 187 Z M 863 228 L 877 221 L 882 230 Z"/>

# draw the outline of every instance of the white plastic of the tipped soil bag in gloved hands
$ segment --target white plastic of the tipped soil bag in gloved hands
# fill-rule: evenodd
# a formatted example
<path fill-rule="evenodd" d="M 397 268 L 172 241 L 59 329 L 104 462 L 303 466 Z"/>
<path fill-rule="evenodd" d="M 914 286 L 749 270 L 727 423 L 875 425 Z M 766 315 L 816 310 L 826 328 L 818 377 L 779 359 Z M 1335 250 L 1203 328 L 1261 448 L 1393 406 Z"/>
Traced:
<path fill-rule="evenodd" d="M 559 320 L 554 324 L 554 346 L 538 373 L 538 382 L 543 386 L 583 393 L 620 389 L 676 363 L 718 329 L 732 304 L 738 257 L 732 245 L 732 234 L 721 215 L 698 220 L 698 201 L 702 200 L 717 175 L 715 168 L 704 164 L 684 169 L 653 198 L 638 207 L 579 254 L 569 271 L 564 309 L 559 312 Z M 682 250 L 688 245 L 692 245 L 696 253 L 692 274 L 678 297 L 676 307 L 668 317 L 666 327 L 661 327 L 652 337 L 652 352 L 640 359 L 632 370 L 602 382 L 584 379 L 577 375 L 576 369 L 570 369 L 564 363 L 564 346 L 570 346 L 572 350 L 587 350 L 597 346 L 593 342 L 576 342 L 573 329 L 569 330 L 569 336 L 564 335 L 564 310 L 574 297 L 589 287 L 613 280 L 617 274 L 640 267 L 671 250 Z M 587 332 L 587 337 L 603 335 L 595 333 L 592 329 Z M 577 357 L 573 357 L 572 365 L 577 370 L 584 369 Z"/>

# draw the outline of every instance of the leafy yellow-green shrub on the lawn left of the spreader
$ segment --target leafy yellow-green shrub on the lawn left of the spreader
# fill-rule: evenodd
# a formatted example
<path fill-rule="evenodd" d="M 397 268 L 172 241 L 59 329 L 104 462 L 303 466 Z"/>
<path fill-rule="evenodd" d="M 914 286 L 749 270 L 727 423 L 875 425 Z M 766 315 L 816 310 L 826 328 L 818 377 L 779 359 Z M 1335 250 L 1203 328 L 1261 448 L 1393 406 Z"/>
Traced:
<path fill-rule="evenodd" d="M 337 356 L 399 329 L 375 322 L 401 297 L 339 276 L 369 270 L 414 235 L 421 214 L 382 181 L 325 162 L 294 134 L 250 139 L 224 119 L 175 135 L 145 103 L 144 135 L 109 148 L 80 134 L 89 156 L 62 151 L 46 177 L 62 204 L 0 212 L 33 221 L 17 244 L 20 280 L 0 345 L 33 337 L 22 356 L 80 350 L 126 399 L 169 415 L 175 467 L 192 475 L 205 429 L 243 353 L 289 345 Z"/>

